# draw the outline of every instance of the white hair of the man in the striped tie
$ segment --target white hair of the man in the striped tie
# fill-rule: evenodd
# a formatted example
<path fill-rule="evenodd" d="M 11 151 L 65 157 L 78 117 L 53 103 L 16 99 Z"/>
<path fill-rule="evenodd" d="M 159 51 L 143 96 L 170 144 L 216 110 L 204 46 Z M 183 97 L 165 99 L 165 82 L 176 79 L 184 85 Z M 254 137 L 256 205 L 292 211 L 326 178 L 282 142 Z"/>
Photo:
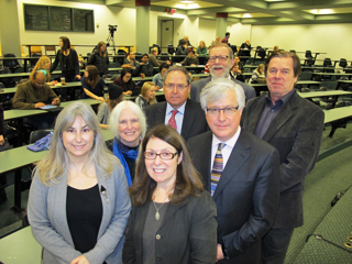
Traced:
<path fill-rule="evenodd" d="M 239 109 L 245 106 L 245 96 L 243 88 L 228 78 L 219 78 L 210 81 L 200 92 L 201 108 L 207 112 L 207 103 L 216 102 L 226 98 L 226 92 L 233 90 L 238 97 Z"/>

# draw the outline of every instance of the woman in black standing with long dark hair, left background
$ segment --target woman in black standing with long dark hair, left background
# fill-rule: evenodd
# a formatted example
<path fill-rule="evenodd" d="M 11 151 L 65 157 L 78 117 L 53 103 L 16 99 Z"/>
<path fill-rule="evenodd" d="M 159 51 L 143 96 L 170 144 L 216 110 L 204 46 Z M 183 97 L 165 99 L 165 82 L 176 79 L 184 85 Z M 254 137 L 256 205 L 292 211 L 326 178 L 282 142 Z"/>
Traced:
<path fill-rule="evenodd" d="M 61 36 L 58 41 L 61 50 L 57 51 L 55 61 L 51 67 L 51 74 L 59 64 L 62 77 L 66 82 L 72 82 L 75 79 L 80 79 L 78 55 L 74 48 L 70 48 L 70 42 L 67 36 Z M 72 94 L 73 89 L 61 89 L 63 101 L 66 101 L 67 95 Z"/>

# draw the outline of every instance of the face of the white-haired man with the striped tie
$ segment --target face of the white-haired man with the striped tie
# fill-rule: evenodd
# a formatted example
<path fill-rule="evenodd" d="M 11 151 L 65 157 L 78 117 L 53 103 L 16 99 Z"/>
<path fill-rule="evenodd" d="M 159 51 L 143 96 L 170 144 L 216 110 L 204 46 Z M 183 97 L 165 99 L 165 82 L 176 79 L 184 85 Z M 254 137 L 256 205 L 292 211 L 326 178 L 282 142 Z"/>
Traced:
<path fill-rule="evenodd" d="M 223 99 L 212 103 L 207 103 L 207 108 L 227 108 L 238 107 L 238 97 L 233 90 L 228 90 Z M 230 140 L 239 129 L 240 120 L 242 116 L 242 109 L 238 109 L 233 114 L 224 114 L 223 111 L 220 113 L 210 116 L 207 111 L 206 119 L 212 133 L 221 141 L 226 142 Z"/>

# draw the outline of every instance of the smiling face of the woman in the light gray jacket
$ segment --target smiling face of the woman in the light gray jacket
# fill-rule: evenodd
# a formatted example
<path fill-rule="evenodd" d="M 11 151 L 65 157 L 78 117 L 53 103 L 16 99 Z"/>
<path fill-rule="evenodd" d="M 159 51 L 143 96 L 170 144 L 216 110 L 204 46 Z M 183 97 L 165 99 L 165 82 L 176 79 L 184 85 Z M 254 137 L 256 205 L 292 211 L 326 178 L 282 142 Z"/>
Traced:
<path fill-rule="evenodd" d="M 87 160 L 94 142 L 95 132 L 80 117 L 77 117 L 75 122 L 63 132 L 63 144 L 70 161 Z"/>

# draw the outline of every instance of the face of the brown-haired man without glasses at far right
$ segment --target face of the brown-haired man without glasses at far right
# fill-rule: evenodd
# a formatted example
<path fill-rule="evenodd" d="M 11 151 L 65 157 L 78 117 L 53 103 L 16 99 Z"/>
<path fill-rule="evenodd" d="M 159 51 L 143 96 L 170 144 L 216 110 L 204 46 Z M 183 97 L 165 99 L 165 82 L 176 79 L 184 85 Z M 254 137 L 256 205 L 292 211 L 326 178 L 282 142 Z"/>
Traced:
<path fill-rule="evenodd" d="M 292 57 L 273 57 L 267 66 L 266 84 L 275 102 L 294 89 L 297 77 Z"/>

